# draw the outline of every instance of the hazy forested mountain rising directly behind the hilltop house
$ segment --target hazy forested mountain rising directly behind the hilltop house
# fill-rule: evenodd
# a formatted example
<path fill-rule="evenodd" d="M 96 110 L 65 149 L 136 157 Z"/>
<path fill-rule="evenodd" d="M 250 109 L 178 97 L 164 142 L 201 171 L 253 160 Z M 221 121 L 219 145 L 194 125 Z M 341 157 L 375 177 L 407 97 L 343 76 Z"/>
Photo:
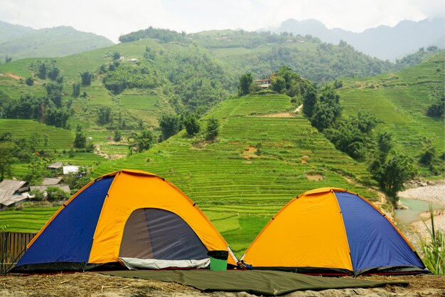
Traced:
<path fill-rule="evenodd" d="M 390 63 L 356 51 L 345 42 L 338 46 L 323 43 L 313 36 L 293 33 L 247 31 L 204 31 L 186 34 L 147 28 L 119 38 L 122 43 L 153 38 L 159 43 L 191 44 L 208 49 L 225 68 L 232 81 L 250 72 L 255 78 L 267 78 L 281 66 L 289 66 L 309 80 L 323 83 L 336 78 L 376 75 L 415 65 L 420 61 Z"/>

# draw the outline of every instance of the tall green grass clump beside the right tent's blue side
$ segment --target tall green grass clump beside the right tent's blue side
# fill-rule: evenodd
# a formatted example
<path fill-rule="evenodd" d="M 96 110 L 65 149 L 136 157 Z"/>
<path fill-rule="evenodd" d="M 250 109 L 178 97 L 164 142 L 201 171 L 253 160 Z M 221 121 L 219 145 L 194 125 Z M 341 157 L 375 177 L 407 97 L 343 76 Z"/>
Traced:
<path fill-rule="evenodd" d="M 431 228 L 429 228 L 426 222 L 424 224 L 427 226 L 431 241 L 420 241 L 420 247 L 424 254 L 424 264 L 432 273 L 445 275 L 445 236 L 443 231 L 435 229 L 431 204 L 429 204 L 429 216 Z"/>

